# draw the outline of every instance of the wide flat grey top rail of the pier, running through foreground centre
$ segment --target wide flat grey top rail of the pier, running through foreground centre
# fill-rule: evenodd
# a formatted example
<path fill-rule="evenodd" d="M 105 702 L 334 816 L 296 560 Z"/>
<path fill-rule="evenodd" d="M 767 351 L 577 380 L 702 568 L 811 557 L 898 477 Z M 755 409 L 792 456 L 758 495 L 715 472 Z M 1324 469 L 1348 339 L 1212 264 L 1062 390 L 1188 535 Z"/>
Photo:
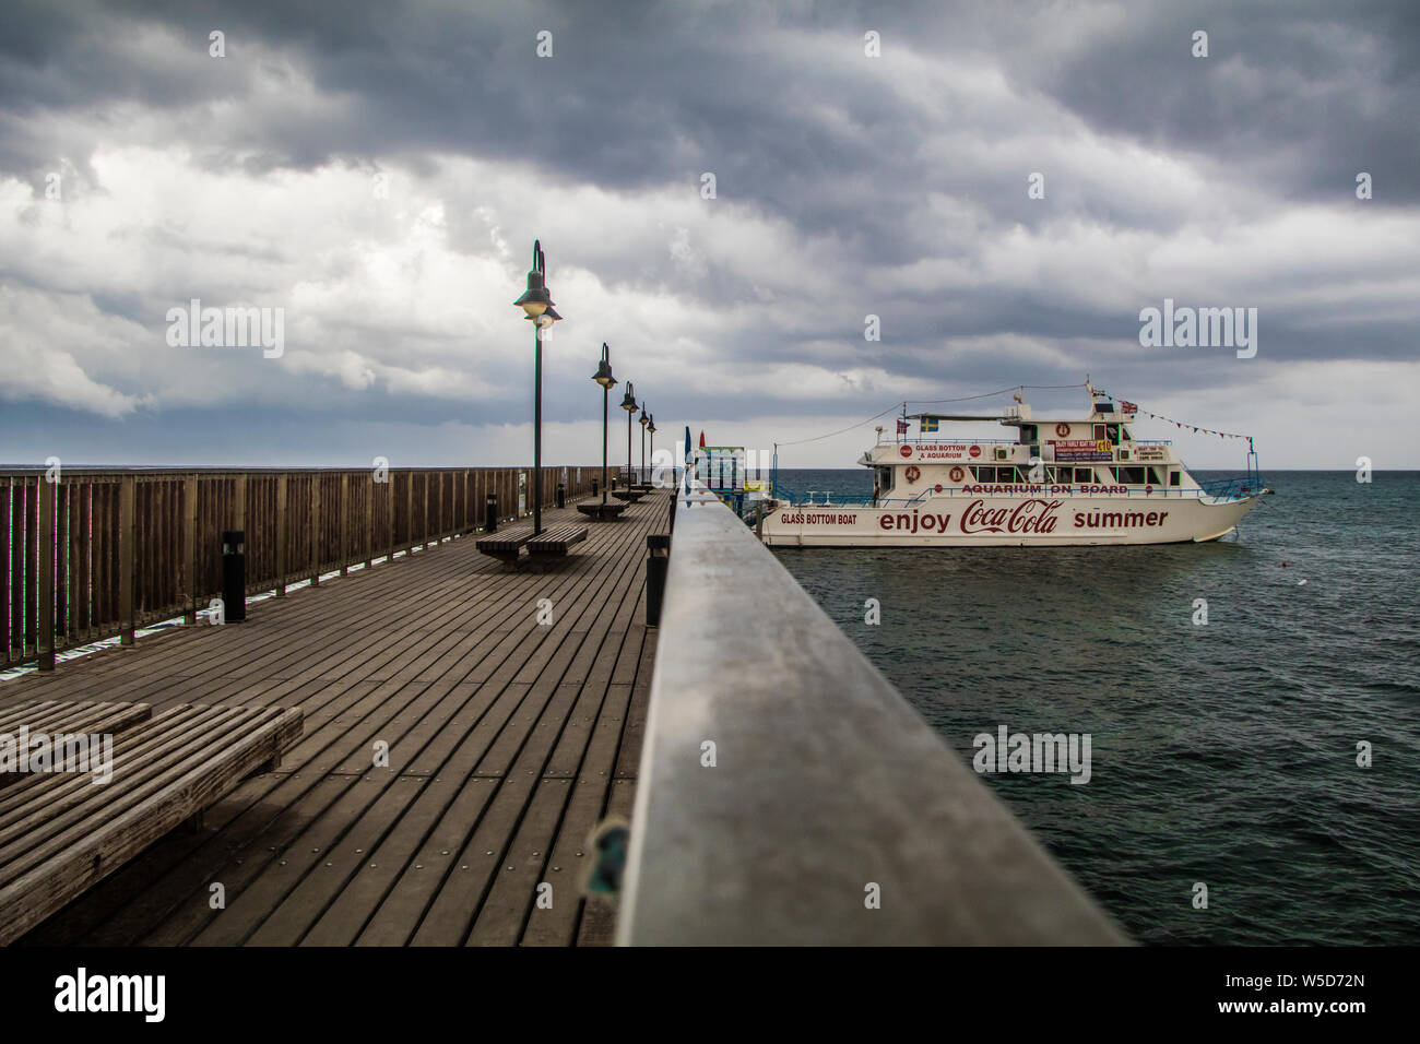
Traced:
<path fill-rule="evenodd" d="M 657 635 L 619 943 L 1126 942 L 714 497 L 676 497 Z"/>

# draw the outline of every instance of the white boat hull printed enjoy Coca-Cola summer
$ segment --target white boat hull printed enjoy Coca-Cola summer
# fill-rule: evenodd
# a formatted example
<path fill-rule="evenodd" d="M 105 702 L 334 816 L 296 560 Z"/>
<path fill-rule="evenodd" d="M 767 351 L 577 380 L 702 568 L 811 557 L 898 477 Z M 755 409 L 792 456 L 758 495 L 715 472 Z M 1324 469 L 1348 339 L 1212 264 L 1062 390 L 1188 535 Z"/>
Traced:
<path fill-rule="evenodd" d="M 1180 544 L 1218 540 L 1261 496 L 943 496 L 912 506 L 778 506 L 763 540 L 780 547 Z"/>

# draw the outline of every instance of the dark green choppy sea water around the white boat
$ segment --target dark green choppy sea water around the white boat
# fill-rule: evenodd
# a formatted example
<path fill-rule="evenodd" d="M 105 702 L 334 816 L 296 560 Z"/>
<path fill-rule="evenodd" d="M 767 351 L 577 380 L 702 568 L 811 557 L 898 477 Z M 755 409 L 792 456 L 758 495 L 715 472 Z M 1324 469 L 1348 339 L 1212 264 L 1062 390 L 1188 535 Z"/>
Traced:
<path fill-rule="evenodd" d="M 983 778 L 1136 939 L 1413 945 L 1420 473 L 1265 477 L 1216 544 L 774 553 L 964 757 L 1001 724 L 1092 734 L 1085 785 Z"/>

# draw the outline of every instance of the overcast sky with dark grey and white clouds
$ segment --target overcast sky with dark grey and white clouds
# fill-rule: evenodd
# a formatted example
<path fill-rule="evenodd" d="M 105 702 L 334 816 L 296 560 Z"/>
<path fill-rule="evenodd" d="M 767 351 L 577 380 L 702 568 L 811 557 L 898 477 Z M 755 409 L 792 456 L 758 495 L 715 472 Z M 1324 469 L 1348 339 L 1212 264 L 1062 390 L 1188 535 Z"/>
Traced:
<path fill-rule="evenodd" d="M 1420 4 L 7 0 L 0 460 L 531 462 L 535 237 L 547 462 L 599 459 L 606 341 L 657 445 L 1088 372 L 1264 469 L 1417 467 Z M 283 354 L 169 344 L 192 298 Z M 1255 357 L 1142 347 L 1164 298 Z"/>

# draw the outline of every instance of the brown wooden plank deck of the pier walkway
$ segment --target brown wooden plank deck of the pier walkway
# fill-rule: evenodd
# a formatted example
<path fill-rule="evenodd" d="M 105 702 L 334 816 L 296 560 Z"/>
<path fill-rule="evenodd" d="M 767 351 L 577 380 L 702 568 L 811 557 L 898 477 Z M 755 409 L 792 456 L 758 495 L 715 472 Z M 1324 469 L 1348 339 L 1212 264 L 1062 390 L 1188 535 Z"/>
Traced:
<path fill-rule="evenodd" d="M 341 480 L 324 482 L 339 496 Z M 656 648 L 645 626 L 646 537 L 666 531 L 667 496 L 594 524 L 574 554 L 528 571 L 476 551 L 479 490 L 454 483 L 466 489 L 420 509 L 432 545 L 408 543 L 388 507 L 355 543 L 346 517 L 378 516 L 368 497 L 348 501 L 348 516 L 339 500 L 321 531 L 334 534 L 337 568 L 356 565 L 348 574 L 251 602 L 244 624 L 169 628 L 0 683 L 0 710 L 43 697 L 155 713 L 176 703 L 304 712 L 304 736 L 277 771 L 243 783 L 200 828 L 166 835 L 18 945 L 612 942 L 613 909 L 584 898 L 586 842 L 604 818 L 632 814 Z M 427 489 L 396 494 L 408 507 Z M 320 500 L 301 511 L 320 516 Z M 179 500 L 173 518 L 190 534 L 203 516 Z M 544 511 L 545 526 L 571 520 L 582 520 L 571 501 Z M 409 550 L 359 567 L 395 544 Z M 305 557 L 317 571 L 331 564 L 325 551 Z M 116 568 L 116 550 L 109 561 Z M 204 585 L 169 587 L 173 598 L 153 601 L 192 616 Z M 132 626 L 141 612 L 125 598 L 108 616 Z"/>

